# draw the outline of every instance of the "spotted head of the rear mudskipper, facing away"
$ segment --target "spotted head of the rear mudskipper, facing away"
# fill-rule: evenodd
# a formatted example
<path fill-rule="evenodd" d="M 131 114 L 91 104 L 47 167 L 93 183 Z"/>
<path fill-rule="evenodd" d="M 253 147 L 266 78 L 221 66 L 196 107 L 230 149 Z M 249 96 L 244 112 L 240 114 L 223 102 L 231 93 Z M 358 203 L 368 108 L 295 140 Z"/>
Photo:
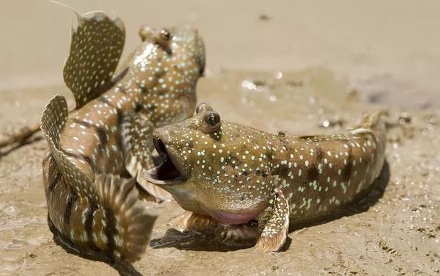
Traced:
<path fill-rule="evenodd" d="M 140 36 L 143 47 L 134 63 L 153 74 L 153 92 L 159 96 L 156 101 L 163 103 L 164 114 L 173 118 L 161 116 L 158 120 L 166 125 L 192 116 L 197 102 L 195 88 L 205 70 L 205 47 L 198 30 L 185 25 L 162 29 L 145 25 Z"/>

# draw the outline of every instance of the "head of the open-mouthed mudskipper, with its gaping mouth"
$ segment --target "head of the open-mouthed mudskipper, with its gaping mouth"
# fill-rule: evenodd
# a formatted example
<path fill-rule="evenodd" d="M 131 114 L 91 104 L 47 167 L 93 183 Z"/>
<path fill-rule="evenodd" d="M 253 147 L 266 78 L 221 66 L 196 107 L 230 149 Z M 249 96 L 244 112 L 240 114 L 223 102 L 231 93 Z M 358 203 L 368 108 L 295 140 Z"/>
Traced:
<path fill-rule="evenodd" d="M 273 186 L 261 145 L 265 135 L 270 134 L 222 121 L 201 104 L 195 116 L 153 132 L 163 162 L 143 176 L 188 211 L 225 224 L 248 222 L 265 209 Z"/>

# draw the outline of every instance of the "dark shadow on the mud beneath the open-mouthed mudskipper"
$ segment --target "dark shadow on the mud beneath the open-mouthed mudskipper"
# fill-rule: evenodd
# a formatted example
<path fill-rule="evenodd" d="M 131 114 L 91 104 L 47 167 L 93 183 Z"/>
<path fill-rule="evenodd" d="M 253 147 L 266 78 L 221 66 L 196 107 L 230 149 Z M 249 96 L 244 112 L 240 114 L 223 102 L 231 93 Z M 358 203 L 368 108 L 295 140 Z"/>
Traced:
<path fill-rule="evenodd" d="M 368 211 L 371 206 L 374 206 L 377 202 L 379 202 L 380 198 L 384 195 L 385 189 L 388 186 L 388 182 L 390 179 L 390 167 L 388 162 L 385 160 L 384 167 L 382 167 L 382 171 L 380 176 L 373 182 L 370 189 L 364 192 L 364 194 L 360 195 L 360 200 L 355 201 L 355 203 L 347 205 L 346 208 L 343 208 L 342 211 L 335 213 L 331 216 L 324 217 L 320 220 L 313 220 L 310 222 L 301 222 L 290 224 L 289 233 L 294 231 L 298 231 L 300 229 L 304 229 L 305 227 L 316 226 L 319 224 L 325 224 L 332 220 L 338 220 L 341 217 L 351 216 L 358 213 L 362 213 Z M 286 251 L 290 244 L 292 243 L 292 239 L 287 237 L 285 242 L 285 246 L 281 249 L 281 251 Z M 249 244 L 246 246 L 225 246 L 221 244 L 221 242 L 217 242 L 215 237 L 211 233 L 197 233 L 186 231 L 181 233 L 176 229 L 168 229 L 164 235 L 164 237 L 160 237 L 158 239 L 151 240 L 150 243 L 153 248 L 166 248 L 166 247 L 174 247 L 179 250 L 190 250 L 190 251 L 219 251 L 219 252 L 227 252 L 227 251 L 236 251 L 243 248 L 250 248 L 253 244 Z"/>

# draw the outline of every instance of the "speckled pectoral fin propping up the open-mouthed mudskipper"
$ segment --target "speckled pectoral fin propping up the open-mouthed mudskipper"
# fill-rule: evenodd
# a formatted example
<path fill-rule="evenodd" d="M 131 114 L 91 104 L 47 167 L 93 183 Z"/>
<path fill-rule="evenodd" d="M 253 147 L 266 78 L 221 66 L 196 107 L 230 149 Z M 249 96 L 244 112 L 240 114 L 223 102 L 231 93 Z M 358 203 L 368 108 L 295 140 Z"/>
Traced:
<path fill-rule="evenodd" d="M 255 245 L 265 252 L 281 250 L 289 230 L 289 203 L 283 192 L 275 189 L 269 203 L 258 217 L 259 237 Z"/>

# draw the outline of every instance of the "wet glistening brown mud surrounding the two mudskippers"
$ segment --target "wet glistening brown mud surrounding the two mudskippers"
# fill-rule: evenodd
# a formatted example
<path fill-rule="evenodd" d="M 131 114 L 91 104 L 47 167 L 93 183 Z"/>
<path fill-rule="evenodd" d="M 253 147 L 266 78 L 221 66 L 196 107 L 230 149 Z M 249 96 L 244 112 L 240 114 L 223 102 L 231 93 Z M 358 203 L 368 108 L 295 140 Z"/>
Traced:
<path fill-rule="evenodd" d="M 173 230 L 175 202 L 148 201 L 159 213 L 153 241 L 133 264 L 142 275 L 439 275 L 440 109 L 408 109 L 365 95 L 344 77 L 321 68 L 298 72 L 237 72 L 210 68 L 199 102 L 224 120 L 290 134 L 330 134 L 365 112 L 388 113 L 386 166 L 364 200 L 328 220 L 292 225 L 281 253 L 228 248 L 198 233 Z M 39 120 L 63 86 L 3 91 L 0 133 Z M 417 95 L 414 95 L 417 96 Z M 400 106 L 400 107 L 399 107 Z M 406 108 L 405 110 L 403 108 Z M 119 275 L 103 262 L 67 253 L 47 222 L 37 134 L 0 151 L 0 275 Z"/>

